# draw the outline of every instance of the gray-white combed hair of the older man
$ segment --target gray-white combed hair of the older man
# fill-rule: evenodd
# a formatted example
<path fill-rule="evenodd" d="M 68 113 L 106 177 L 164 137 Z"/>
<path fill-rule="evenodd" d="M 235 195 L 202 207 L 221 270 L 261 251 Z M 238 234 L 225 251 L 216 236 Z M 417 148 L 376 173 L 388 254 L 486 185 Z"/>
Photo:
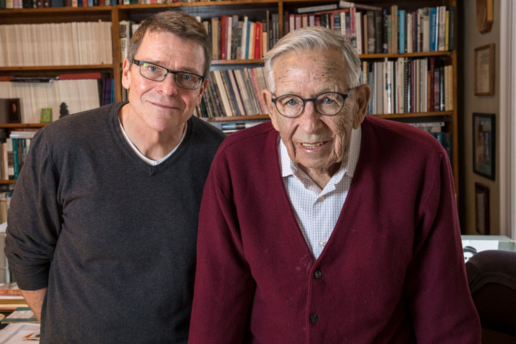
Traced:
<path fill-rule="evenodd" d="M 340 50 L 343 63 L 347 67 L 345 82 L 350 87 L 356 87 L 360 83 L 361 61 L 358 53 L 350 43 L 347 36 L 341 36 L 333 30 L 321 26 L 311 26 L 289 32 L 280 39 L 271 50 L 264 55 L 264 67 L 269 89 L 275 91 L 275 78 L 272 67 L 275 60 L 288 52 L 303 50 L 328 50 L 334 48 Z"/>

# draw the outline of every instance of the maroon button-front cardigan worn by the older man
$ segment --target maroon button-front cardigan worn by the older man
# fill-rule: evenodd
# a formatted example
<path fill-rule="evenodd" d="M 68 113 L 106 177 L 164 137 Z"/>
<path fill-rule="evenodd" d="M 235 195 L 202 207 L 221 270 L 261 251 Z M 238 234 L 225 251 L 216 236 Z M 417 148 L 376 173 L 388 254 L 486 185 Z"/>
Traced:
<path fill-rule="evenodd" d="M 314 261 L 270 123 L 221 145 L 202 199 L 189 343 L 480 343 L 451 167 L 420 129 L 367 116 Z"/>

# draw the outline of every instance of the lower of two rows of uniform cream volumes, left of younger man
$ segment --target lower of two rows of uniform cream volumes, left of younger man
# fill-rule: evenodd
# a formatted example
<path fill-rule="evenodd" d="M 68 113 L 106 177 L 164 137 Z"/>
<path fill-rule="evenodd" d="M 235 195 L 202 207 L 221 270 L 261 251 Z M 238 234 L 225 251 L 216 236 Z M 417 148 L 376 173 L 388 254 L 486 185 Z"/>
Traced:
<path fill-rule="evenodd" d="M 112 88 L 111 92 L 114 92 Z M 69 114 L 100 105 L 99 82 L 95 79 L 54 80 L 49 83 L 1 81 L 0 94 L 5 98 L 20 98 L 23 123 L 39 123 L 41 109 L 47 108 L 52 109 L 52 119 L 57 120 L 61 103 L 66 103 Z"/>

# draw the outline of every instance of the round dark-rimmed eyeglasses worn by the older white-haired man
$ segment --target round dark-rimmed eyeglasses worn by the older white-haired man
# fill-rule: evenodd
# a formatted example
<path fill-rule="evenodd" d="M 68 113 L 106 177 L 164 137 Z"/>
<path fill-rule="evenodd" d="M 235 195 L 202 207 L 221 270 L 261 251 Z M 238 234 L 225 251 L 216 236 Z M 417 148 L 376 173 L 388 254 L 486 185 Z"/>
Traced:
<path fill-rule="evenodd" d="M 324 116 L 334 116 L 341 112 L 344 102 L 354 88 L 350 89 L 347 94 L 338 92 L 324 92 L 315 98 L 301 98 L 295 94 L 285 94 L 277 98 L 272 98 L 272 103 L 276 105 L 279 114 L 288 118 L 296 118 L 303 114 L 305 104 L 314 102 L 315 111 Z"/>

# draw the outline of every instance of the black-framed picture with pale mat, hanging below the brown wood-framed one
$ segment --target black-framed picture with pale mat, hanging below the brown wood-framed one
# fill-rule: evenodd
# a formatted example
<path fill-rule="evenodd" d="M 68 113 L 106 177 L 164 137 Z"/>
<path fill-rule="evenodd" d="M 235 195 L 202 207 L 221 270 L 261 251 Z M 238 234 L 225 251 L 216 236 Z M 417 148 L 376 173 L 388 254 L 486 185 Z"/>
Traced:
<path fill-rule="evenodd" d="M 495 115 L 473 113 L 473 172 L 495 180 Z"/>

